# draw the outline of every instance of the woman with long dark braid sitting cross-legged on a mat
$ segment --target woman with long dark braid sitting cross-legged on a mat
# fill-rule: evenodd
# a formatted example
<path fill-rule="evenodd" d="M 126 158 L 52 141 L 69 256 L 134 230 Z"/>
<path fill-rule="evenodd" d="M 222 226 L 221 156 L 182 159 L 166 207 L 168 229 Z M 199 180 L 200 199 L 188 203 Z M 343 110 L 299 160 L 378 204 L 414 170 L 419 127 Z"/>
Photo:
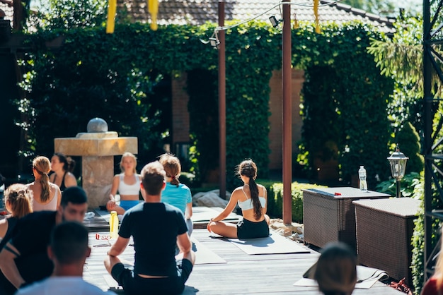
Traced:
<path fill-rule="evenodd" d="M 207 230 L 226 238 L 253 239 L 269 236 L 269 216 L 266 215 L 266 188 L 255 183 L 257 165 L 247 159 L 238 165 L 238 175 L 243 186 L 236 188 L 228 205 L 207 224 Z M 243 220 L 238 224 L 222 222 L 234 210 L 236 204 L 241 208 Z"/>

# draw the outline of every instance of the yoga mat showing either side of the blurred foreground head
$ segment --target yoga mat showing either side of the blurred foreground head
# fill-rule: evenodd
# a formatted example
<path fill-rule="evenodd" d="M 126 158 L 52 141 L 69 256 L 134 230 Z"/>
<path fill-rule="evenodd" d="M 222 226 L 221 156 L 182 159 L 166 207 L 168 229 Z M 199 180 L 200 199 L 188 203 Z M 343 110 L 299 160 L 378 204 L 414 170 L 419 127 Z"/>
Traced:
<path fill-rule="evenodd" d="M 315 267 L 315 264 L 309 267 L 309 270 L 305 272 L 304 277 L 295 282 L 294 286 L 318 287 L 317 282 L 314 279 L 309 279 L 309 277 L 305 277 L 305 275 L 312 272 L 313 267 Z M 374 284 L 379 279 L 387 279 L 388 277 L 388 273 L 384 270 L 378 270 L 372 267 L 357 265 L 357 284 L 355 284 L 355 289 L 369 289 L 374 286 Z"/>

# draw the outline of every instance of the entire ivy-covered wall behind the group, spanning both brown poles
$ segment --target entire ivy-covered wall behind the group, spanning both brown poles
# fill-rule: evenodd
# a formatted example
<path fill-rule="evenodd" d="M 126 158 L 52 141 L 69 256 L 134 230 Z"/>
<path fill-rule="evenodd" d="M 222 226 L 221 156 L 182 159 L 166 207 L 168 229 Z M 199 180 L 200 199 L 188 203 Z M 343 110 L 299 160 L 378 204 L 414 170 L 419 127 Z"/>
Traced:
<path fill-rule="evenodd" d="M 84 126 L 93 116 L 108 121 L 110 130 L 120 136 L 137 136 L 141 155 L 153 149 L 162 140 L 161 133 L 150 132 L 158 124 L 158 110 L 149 107 L 153 85 L 162 75 L 174 71 L 200 70 L 216 77 L 217 50 L 202 42 L 208 40 L 213 29 L 212 24 L 168 25 L 152 31 L 149 25 L 131 24 L 117 25 L 113 35 L 105 34 L 104 28 L 52 30 L 33 35 L 35 44 L 41 46 L 29 56 L 28 66 L 32 71 L 25 81 L 30 107 L 35 109 L 33 113 L 30 112 L 33 109 L 25 110 L 33 118 L 30 150 L 52 151 L 52 138 L 84 132 Z M 64 35 L 64 45 L 48 51 L 45 40 L 57 35 Z M 335 87 L 322 97 L 311 97 L 325 102 L 333 100 L 325 112 L 335 113 L 338 120 L 328 125 L 321 113 L 310 117 L 306 112 L 310 102 L 306 95 L 303 102 L 306 122 L 318 128 L 309 132 L 306 129 L 304 138 L 308 147 L 313 138 L 320 141 L 330 136 L 335 138 L 345 179 L 357 171 L 358 164 L 368 166 L 370 176 L 375 173 L 382 176 L 388 155 L 389 126 L 384 108 L 389 100 L 390 81 L 380 76 L 372 56 L 366 52 L 372 37 L 381 38 L 381 35 L 362 23 L 329 25 L 321 35 L 313 32 L 311 24 L 301 24 L 292 31 L 292 64 L 305 69 L 311 89 L 322 88 L 330 79 L 328 72 L 335 73 Z M 257 162 L 260 177 L 267 176 L 269 80 L 272 70 L 281 67 L 281 43 L 279 28 L 267 23 L 251 22 L 226 32 L 228 187 L 236 185 L 234 167 L 246 157 Z M 321 67 L 328 71 L 316 70 Z M 213 86 L 212 95 L 217 96 L 217 85 Z M 205 96 L 199 97 L 198 88 L 189 89 L 188 93 L 190 101 L 205 103 Z M 210 101 L 217 102 L 217 97 Z M 192 112 L 204 109 L 195 111 L 190 106 L 190 112 L 192 118 Z M 330 124 L 338 124 L 340 132 L 326 136 L 325 129 L 331 128 Z M 200 129 L 207 126 L 192 126 L 195 140 L 205 142 L 207 138 L 202 134 L 210 131 Z M 212 126 L 214 134 L 218 133 L 216 126 Z M 200 145 L 201 150 L 196 154 L 202 165 L 214 161 L 213 154 L 206 159 L 203 156 L 218 148 L 217 142 L 206 142 L 205 146 Z"/>

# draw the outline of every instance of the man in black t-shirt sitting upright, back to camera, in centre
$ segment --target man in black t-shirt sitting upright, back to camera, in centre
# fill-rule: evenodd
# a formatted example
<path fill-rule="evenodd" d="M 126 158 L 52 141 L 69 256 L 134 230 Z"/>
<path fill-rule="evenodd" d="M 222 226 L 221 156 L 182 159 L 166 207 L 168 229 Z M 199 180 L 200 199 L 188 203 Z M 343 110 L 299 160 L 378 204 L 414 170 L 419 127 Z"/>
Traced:
<path fill-rule="evenodd" d="M 126 294 L 181 294 L 195 262 L 183 213 L 161 203 L 166 173 L 160 162 L 142 169 L 140 184 L 144 203 L 125 212 L 117 241 L 105 258 L 106 270 Z M 120 255 L 134 239 L 134 270 L 125 267 Z M 176 245 L 183 259 L 176 260 Z"/>

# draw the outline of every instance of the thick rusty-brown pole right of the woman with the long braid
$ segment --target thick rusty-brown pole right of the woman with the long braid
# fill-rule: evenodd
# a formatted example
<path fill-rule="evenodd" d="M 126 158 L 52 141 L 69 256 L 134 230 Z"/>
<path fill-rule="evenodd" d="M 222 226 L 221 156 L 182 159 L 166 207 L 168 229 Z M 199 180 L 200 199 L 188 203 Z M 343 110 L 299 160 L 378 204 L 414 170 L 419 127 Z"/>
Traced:
<path fill-rule="evenodd" d="M 287 1 L 287 2 L 290 2 Z M 292 224 L 292 60 L 291 5 L 283 4 L 282 93 L 283 93 L 283 223 Z"/>

